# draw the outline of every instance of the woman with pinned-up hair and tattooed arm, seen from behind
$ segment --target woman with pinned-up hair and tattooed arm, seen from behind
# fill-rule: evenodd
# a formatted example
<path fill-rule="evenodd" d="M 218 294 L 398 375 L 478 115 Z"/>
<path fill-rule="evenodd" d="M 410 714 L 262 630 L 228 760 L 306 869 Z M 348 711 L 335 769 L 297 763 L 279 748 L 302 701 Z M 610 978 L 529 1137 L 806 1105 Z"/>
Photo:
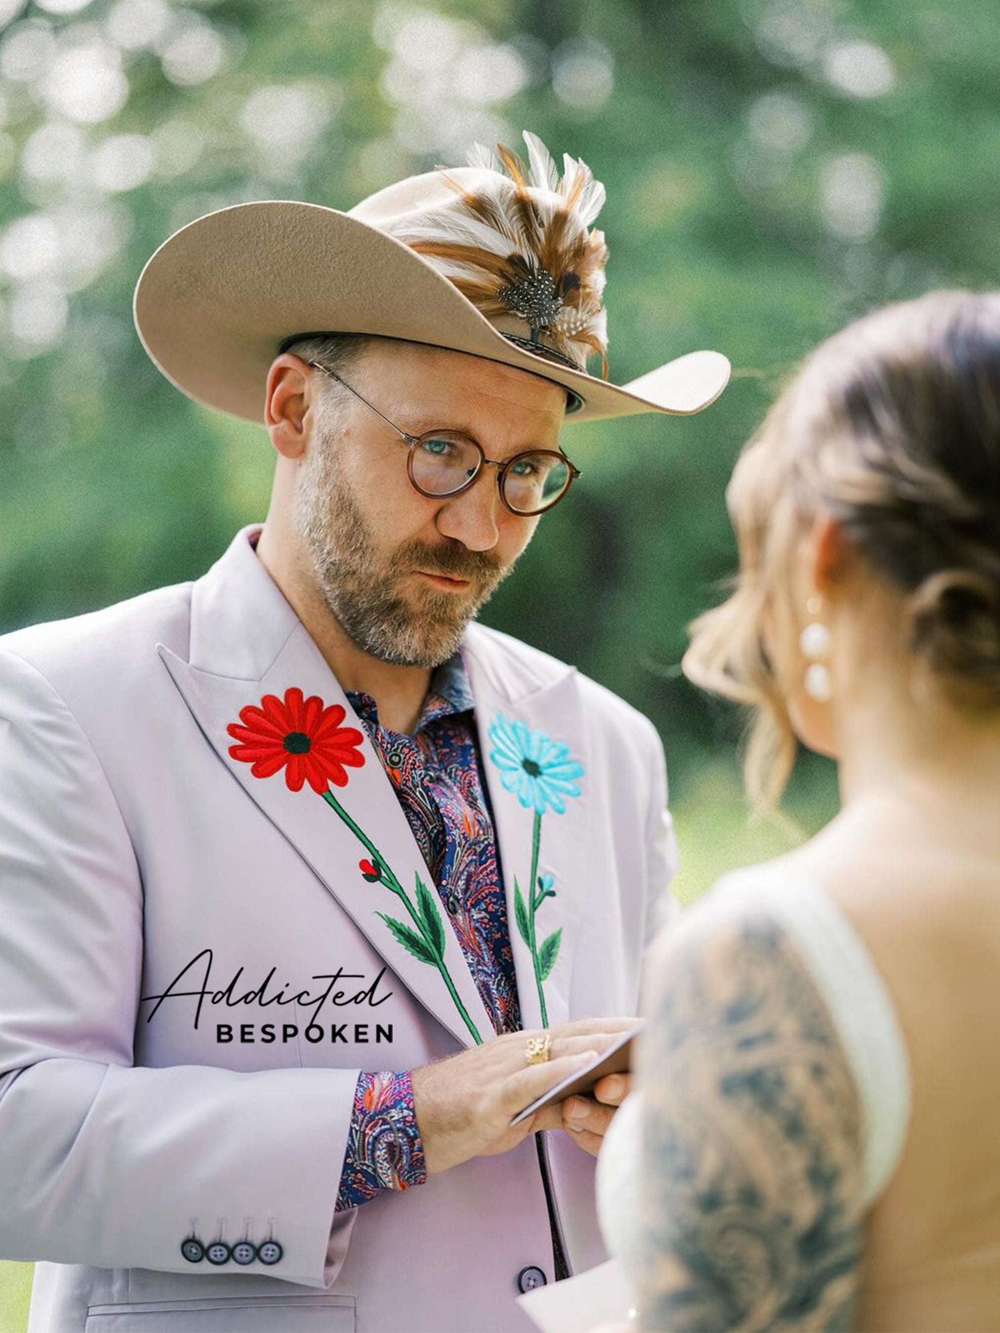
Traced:
<path fill-rule="evenodd" d="M 657 941 L 605 1236 L 641 1329 L 1000 1329 L 1000 296 L 823 344 L 728 504 L 685 674 L 757 806 L 797 736 L 843 809 Z"/>

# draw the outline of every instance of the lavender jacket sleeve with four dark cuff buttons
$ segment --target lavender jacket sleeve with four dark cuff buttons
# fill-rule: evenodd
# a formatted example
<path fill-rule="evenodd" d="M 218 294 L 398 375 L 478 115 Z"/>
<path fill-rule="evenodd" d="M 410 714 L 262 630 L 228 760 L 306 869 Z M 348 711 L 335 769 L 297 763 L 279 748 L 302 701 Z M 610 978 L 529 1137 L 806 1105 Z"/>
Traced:
<path fill-rule="evenodd" d="M 329 1286 L 359 1070 L 135 1066 L 141 962 L 141 878 L 97 756 L 0 649 L 0 1257 Z M 221 1220 L 231 1245 L 271 1232 L 283 1254 L 195 1266 L 193 1218 L 205 1246 Z"/>

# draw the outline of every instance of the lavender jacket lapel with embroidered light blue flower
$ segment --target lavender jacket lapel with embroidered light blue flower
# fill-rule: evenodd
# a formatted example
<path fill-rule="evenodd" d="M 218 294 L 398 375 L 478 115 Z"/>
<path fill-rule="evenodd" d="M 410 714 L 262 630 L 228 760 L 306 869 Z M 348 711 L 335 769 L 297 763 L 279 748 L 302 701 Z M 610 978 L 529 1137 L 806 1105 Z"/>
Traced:
<path fill-rule="evenodd" d="M 469 627 L 465 648 L 504 876 L 521 1025 L 552 1028 L 569 1014 L 592 822 L 591 764 L 576 672 L 567 666 L 540 686 L 537 677 L 477 625 Z M 519 772 L 525 760 L 527 768 Z M 543 808 L 540 818 L 537 806 Z"/>

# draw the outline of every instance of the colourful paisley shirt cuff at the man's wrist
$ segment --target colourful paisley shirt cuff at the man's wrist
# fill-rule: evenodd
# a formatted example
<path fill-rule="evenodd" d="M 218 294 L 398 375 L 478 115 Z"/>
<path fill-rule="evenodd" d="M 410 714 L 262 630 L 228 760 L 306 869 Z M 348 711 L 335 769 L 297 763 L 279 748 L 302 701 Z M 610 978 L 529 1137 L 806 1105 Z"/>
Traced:
<path fill-rule="evenodd" d="M 425 1180 L 409 1070 L 359 1074 L 335 1212 Z"/>

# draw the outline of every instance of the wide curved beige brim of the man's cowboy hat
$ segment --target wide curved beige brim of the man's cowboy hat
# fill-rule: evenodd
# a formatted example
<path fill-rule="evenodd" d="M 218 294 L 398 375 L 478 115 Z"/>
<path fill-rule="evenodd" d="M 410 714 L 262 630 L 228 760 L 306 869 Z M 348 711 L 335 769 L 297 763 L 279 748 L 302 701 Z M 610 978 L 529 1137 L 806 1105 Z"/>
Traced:
<path fill-rule="evenodd" d="M 689 352 L 625 385 L 509 343 L 429 260 L 321 204 L 259 200 L 207 213 L 149 257 L 132 313 L 143 347 L 181 393 L 264 419 L 267 372 L 293 333 L 368 333 L 467 352 L 571 389 L 567 421 L 688 416 L 729 379 L 720 352 Z"/>

